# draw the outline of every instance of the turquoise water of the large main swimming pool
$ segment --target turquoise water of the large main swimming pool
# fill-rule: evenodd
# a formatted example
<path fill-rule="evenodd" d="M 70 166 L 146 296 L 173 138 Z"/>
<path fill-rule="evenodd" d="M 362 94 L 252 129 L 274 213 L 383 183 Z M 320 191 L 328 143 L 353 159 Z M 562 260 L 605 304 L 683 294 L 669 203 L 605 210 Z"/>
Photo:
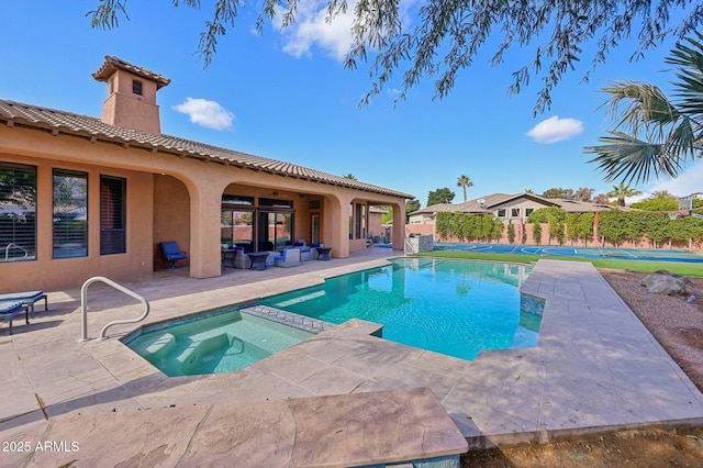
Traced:
<path fill-rule="evenodd" d="M 260 302 L 341 324 L 383 324 L 386 339 L 471 360 L 483 349 L 537 345 L 543 301 L 523 297 L 532 267 L 432 258 L 328 279 Z"/>

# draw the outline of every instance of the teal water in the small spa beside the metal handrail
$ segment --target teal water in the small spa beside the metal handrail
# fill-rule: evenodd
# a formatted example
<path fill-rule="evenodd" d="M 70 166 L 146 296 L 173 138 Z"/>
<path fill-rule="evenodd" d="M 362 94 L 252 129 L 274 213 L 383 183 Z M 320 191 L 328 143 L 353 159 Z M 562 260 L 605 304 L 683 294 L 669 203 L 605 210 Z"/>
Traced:
<path fill-rule="evenodd" d="M 236 310 L 147 327 L 124 343 L 170 377 L 234 372 L 312 333 Z"/>

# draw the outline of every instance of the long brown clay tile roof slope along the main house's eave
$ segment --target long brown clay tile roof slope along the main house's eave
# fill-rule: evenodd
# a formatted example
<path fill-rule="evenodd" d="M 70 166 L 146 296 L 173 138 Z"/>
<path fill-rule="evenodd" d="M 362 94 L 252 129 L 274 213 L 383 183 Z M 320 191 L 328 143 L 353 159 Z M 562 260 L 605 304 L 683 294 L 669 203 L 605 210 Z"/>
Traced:
<path fill-rule="evenodd" d="M 414 198 L 409 193 L 334 176 L 291 163 L 268 159 L 233 149 L 179 138 L 177 136 L 163 134 L 153 135 L 146 132 L 123 129 L 103 123 L 100 119 L 92 116 L 21 102 L 0 100 L 0 122 L 5 122 L 9 126 L 26 126 L 47 130 L 57 134 L 70 134 L 116 144 L 144 147 L 178 156 L 191 156 L 252 170 L 277 174 L 283 177 L 294 177 L 395 198 Z"/>

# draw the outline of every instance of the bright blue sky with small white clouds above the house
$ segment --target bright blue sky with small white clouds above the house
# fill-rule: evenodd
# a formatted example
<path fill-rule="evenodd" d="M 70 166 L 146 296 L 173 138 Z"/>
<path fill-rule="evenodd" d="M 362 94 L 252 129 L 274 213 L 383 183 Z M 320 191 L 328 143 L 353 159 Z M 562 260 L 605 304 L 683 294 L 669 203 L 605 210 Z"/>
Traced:
<path fill-rule="evenodd" d="M 613 183 L 585 164 L 590 155 L 582 152 L 610 127 L 598 109 L 604 99 L 599 89 L 613 79 L 668 89 L 672 79 L 661 70 L 673 40 L 635 63 L 628 62 L 635 42 L 624 44 L 583 83 L 587 49 L 582 68 L 554 91 L 551 109 L 534 116 L 537 79 L 520 96 L 507 94 L 512 71 L 529 53 L 514 49 L 506 63 L 491 67 L 487 49 L 487 58 L 461 71 L 443 100 L 433 100 L 434 83 L 424 79 L 395 107 L 398 83 L 391 83 L 359 109 L 371 80 L 368 64 L 343 67 L 348 20 L 324 25 L 301 2 L 294 27 L 281 33 L 269 26 L 258 35 L 249 8 L 220 38 L 217 55 L 204 69 L 196 51 L 211 13 L 210 2 L 202 3 L 199 12 L 172 8 L 170 1 L 127 2 L 130 21 L 102 31 L 86 16 L 98 0 L 0 2 L 0 99 L 100 116 L 107 89 L 90 74 L 105 55 L 114 55 L 171 79 L 157 97 L 166 134 L 339 176 L 352 172 L 412 193 L 425 205 L 428 191 L 442 187 L 461 201 L 456 186 L 461 174 L 473 181 L 469 199 L 553 187 L 611 190 Z M 677 196 L 702 191 L 703 164 L 691 165 L 677 180 L 637 188 Z"/>

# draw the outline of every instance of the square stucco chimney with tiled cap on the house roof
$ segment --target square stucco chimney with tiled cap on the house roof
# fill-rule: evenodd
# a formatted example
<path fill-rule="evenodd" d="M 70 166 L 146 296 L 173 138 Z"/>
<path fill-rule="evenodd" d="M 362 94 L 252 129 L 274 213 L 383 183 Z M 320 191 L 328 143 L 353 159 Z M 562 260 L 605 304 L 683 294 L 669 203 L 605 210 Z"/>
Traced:
<path fill-rule="evenodd" d="M 111 55 L 105 56 L 105 63 L 92 77 L 108 83 L 102 122 L 154 135 L 161 134 L 156 91 L 168 86 L 170 79 Z"/>

